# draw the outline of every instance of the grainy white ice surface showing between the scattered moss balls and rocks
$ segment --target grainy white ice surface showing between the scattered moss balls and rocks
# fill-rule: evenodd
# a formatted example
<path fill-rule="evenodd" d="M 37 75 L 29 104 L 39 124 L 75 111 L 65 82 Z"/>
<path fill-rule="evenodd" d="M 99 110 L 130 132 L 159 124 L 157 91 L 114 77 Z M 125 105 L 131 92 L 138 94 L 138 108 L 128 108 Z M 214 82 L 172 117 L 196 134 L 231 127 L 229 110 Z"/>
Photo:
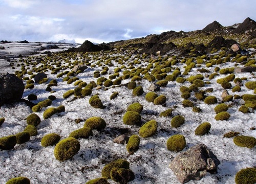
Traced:
<path fill-rule="evenodd" d="M 104 55 L 109 55 L 109 53 L 104 53 Z M 122 55 L 119 57 L 121 56 Z M 92 64 L 99 61 L 95 60 L 95 57 L 96 56 L 91 56 L 90 62 Z M 136 55 L 133 55 L 129 61 L 136 59 L 138 59 Z M 148 64 L 144 59 L 138 60 L 141 61 L 141 64 L 135 64 L 135 67 L 146 67 Z M 4 61 L 1 63 L 4 63 Z M 61 63 L 67 64 L 65 61 L 61 61 Z M 104 64 L 104 62 L 102 63 Z M 114 73 L 114 68 L 121 66 L 121 64 L 118 64 L 118 62 L 114 60 L 112 63 L 114 66 L 109 66 L 108 74 L 103 75 L 103 77 L 108 78 L 109 75 Z M 236 62 L 227 62 L 218 66 L 225 68 L 233 67 L 234 64 L 236 64 Z M 129 67 L 129 62 L 126 62 L 124 65 Z M 185 70 L 183 66 L 185 66 L 185 64 L 181 64 L 180 62 L 175 65 L 175 67 L 180 68 L 181 73 Z M 217 65 L 213 65 L 207 69 L 210 73 L 213 73 L 216 66 Z M 197 69 L 202 67 L 206 68 L 205 64 L 193 68 L 193 70 L 189 72 L 189 75 L 185 77 L 187 78 L 191 75 L 198 74 Z M 16 70 L 19 70 L 19 67 L 16 67 L 14 70 L 12 70 L 10 66 L 1 68 L 2 73 L 14 73 Z M 90 81 L 96 82 L 97 78 L 93 77 L 95 71 L 102 71 L 102 67 L 98 67 L 97 65 L 93 68 L 89 67 L 76 77 L 87 83 Z M 124 69 L 121 70 L 120 76 L 123 71 Z M 182 134 L 185 136 L 187 146 L 183 151 L 193 145 L 203 143 L 221 162 L 216 174 L 207 173 L 201 180 L 191 180 L 188 182 L 189 184 L 234 183 L 234 177 L 239 170 L 256 166 L 255 147 L 252 149 L 238 147 L 233 143 L 232 138 L 223 138 L 223 135 L 229 131 L 239 131 L 243 135 L 256 137 L 256 130 L 250 130 L 251 127 L 256 126 L 255 110 L 250 109 L 250 113 L 247 114 L 239 112 L 239 107 L 244 103 L 242 99 L 226 102 L 231 106 L 228 109 L 231 115 L 229 120 L 216 121 L 214 107 L 217 104 L 207 105 L 203 101 L 198 101 L 194 93 L 191 93 L 189 100 L 200 107 L 202 112 L 196 113 L 192 111 L 191 107 L 182 106 L 183 99 L 181 98 L 180 87 L 182 85 L 189 86 L 190 83 L 188 81 L 183 84 L 177 83 L 176 81 L 168 82 L 166 87 L 161 87 L 160 91 L 157 92 L 158 95 L 165 95 L 167 97 L 166 104 L 154 105 L 145 100 L 145 94 L 148 92 L 148 87 L 151 83 L 147 80 L 141 80 L 137 81 L 137 85 L 143 87 L 144 94 L 142 96 L 133 96 L 132 90 L 124 85 L 114 88 L 105 88 L 102 86 L 102 88 L 98 90 L 94 88 L 92 95 L 99 95 L 103 105 L 106 106 L 104 109 L 96 109 L 88 102 L 90 96 L 74 101 L 72 101 L 74 96 L 63 99 L 63 93 L 76 87 L 74 83 L 67 84 L 67 82 L 63 82 L 62 78 L 66 75 L 61 78 L 56 78 L 56 74 L 51 74 L 51 71 L 46 72 L 46 74 L 48 75 L 49 81 L 52 79 L 57 80 L 57 86 L 52 87 L 52 90 L 56 92 L 50 93 L 46 91 L 47 83 L 35 84 L 33 89 L 25 89 L 23 98 L 27 99 L 29 94 L 35 94 L 38 99 L 33 102 L 38 103 L 47 99 L 48 96 L 54 95 L 56 100 L 53 101 L 52 106 L 57 107 L 59 105 L 65 105 L 66 111 L 55 114 L 46 120 L 42 118 L 42 113 L 46 108 L 35 112 L 41 118 L 41 123 L 37 127 L 38 135 L 31 137 L 30 141 L 25 144 L 16 145 L 12 150 L 0 151 L 0 183 L 5 183 L 8 179 L 18 176 L 30 178 L 31 183 L 85 183 L 90 179 L 101 177 L 101 170 L 104 165 L 118 158 L 126 159 L 131 164 L 131 170 L 135 173 L 135 179 L 130 183 L 179 183 L 172 170 L 168 168 L 172 159 L 179 154 L 179 152 L 170 152 L 166 148 L 167 139 L 174 134 Z M 172 72 L 168 74 L 172 74 Z M 236 78 L 247 77 L 247 81 L 255 81 L 255 74 L 256 73 L 253 72 L 235 75 Z M 205 73 L 203 75 L 205 75 Z M 210 84 L 206 84 L 200 89 L 213 88 L 212 93 L 206 93 L 206 96 L 216 96 L 218 103 L 221 103 L 223 88 L 216 81 L 227 75 L 219 75 L 212 80 L 205 77 L 204 82 L 210 81 Z M 29 75 L 25 76 L 29 77 Z M 123 80 L 122 84 L 126 84 L 129 81 L 131 81 L 131 78 Z M 242 83 L 244 84 L 247 81 L 242 81 Z M 24 83 L 26 83 L 26 81 L 24 81 Z M 234 86 L 234 83 L 231 83 L 232 86 Z M 249 90 L 245 86 L 241 88 L 242 90 L 240 92 L 232 93 L 231 89 L 228 89 L 228 92 L 230 95 L 253 94 L 253 90 Z M 110 96 L 115 91 L 119 93 L 119 96 L 114 100 L 110 100 Z M 142 124 L 154 119 L 158 123 L 158 131 L 153 137 L 146 139 L 141 137 L 139 150 L 133 155 L 129 155 L 125 145 L 116 144 L 113 142 L 113 139 L 123 132 L 129 135 L 138 134 L 140 126 L 124 125 L 122 121 L 127 106 L 134 102 L 139 102 L 144 107 L 141 113 Z M 172 117 L 159 117 L 159 113 L 168 108 L 174 109 L 172 117 L 178 114 L 184 116 L 185 123 L 181 127 L 172 128 L 170 126 Z M 25 119 L 31 113 L 32 110 L 30 107 L 23 103 L 3 105 L 0 108 L 0 117 L 5 117 L 6 121 L 0 127 L 0 137 L 23 131 L 27 125 Z M 44 135 L 48 133 L 58 133 L 61 139 L 64 139 L 68 137 L 73 130 L 83 127 L 83 122 L 79 124 L 75 123 L 76 119 L 87 120 L 94 116 L 103 118 L 107 124 L 106 128 L 101 132 L 93 130 L 93 136 L 89 137 L 89 139 L 79 139 L 81 148 L 72 159 L 59 162 L 53 154 L 54 146 L 41 146 L 40 141 Z M 195 135 L 195 129 L 203 122 L 209 122 L 211 124 L 210 132 L 203 136 Z M 109 180 L 109 182 L 115 183 L 112 180 Z"/>

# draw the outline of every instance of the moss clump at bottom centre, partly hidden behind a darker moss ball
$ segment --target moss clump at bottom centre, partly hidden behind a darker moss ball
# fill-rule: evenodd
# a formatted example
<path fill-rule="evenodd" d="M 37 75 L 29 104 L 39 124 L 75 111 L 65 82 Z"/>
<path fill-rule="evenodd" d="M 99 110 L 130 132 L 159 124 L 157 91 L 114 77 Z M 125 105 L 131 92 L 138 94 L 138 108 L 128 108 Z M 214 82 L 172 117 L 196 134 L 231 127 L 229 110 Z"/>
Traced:
<path fill-rule="evenodd" d="M 113 168 L 124 168 L 124 169 L 129 169 L 130 168 L 130 163 L 127 162 L 124 159 L 117 159 L 114 160 L 113 162 L 106 164 L 102 171 L 101 175 L 103 178 L 110 179 L 111 178 L 111 170 Z"/>

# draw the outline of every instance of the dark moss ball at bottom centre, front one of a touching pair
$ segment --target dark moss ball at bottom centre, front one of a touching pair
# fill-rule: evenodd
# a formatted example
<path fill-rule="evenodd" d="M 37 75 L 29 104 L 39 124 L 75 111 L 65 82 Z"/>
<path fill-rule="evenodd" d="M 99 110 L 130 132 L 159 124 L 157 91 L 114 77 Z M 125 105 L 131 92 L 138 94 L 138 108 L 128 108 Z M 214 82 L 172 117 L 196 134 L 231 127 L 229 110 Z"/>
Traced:
<path fill-rule="evenodd" d="M 134 172 L 131 169 L 124 168 L 113 168 L 110 175 L 111 179 L 118 183 L 127 183 L 135 178 Z"/>

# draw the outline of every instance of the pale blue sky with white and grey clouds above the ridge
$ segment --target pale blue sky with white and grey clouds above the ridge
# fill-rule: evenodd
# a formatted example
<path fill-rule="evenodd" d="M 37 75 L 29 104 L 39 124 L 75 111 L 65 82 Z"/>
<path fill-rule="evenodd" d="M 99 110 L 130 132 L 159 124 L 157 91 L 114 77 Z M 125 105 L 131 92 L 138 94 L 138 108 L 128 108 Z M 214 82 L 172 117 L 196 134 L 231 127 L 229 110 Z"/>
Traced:
<path fill-rule="evenodd" d="M 102 43 L 256 21 L 250 0 L 0 0 L 0 40 Z"/>

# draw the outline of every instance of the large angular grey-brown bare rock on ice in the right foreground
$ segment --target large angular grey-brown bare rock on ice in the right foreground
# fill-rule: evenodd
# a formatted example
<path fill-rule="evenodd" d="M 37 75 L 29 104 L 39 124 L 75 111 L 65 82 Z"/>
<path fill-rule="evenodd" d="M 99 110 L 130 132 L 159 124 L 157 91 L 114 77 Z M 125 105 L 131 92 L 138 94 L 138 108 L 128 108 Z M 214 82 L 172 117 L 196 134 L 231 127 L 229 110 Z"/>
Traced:
<path fill-rule="evenodd" d="M 215 171 L 220 160 L 204 144 L 198 144 L 180 153 L 169 168 L 181 183 L 199 180 L 207 171 Z"/>

